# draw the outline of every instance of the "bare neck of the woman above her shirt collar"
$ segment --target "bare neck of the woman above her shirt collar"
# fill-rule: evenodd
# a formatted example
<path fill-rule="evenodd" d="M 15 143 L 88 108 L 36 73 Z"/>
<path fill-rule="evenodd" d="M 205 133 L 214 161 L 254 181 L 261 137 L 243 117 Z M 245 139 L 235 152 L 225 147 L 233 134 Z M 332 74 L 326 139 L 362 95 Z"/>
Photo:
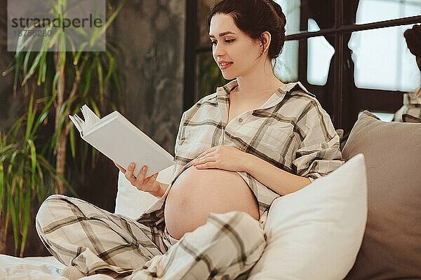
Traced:
<path fill-rule="evenodd" d="M 254 70 L 249 71 L 246 75 L 237 77 L 237 82 L 239 84 L 237 91 L 250 95 L 259 93 L 272 94 L 283 85 L 276 78 L 269 59 L 265 63 L 262 63 L 262 65 L 255 66 Z"/>

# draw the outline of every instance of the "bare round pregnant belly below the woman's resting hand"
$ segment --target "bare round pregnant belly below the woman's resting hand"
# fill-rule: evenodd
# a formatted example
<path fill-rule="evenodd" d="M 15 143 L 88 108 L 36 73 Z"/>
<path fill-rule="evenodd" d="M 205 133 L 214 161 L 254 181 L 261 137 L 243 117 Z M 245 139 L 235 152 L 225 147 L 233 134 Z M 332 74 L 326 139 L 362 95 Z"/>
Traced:
<path fill-rule="evenodd" d="M 168 233 L 180 239 L 204 225 L 210 213 L 243 211 L 259 219 L 255 195 L 236 172 L 189 167 L 173 183 L 165 204 Z"/>

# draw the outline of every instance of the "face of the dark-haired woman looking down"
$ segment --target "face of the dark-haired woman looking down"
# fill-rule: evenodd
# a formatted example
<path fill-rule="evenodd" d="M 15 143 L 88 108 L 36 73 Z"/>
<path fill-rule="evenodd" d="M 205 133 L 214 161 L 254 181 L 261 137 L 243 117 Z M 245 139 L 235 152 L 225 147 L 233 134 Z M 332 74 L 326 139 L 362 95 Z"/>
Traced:
<path fill-rule="evenodd" d="M 213 15 L 209 38 L 212 41 L 213 59 L 227 80 L 246 76 L 263 59 L 263 56 L 260 57 L 260 41 L 253 41 L 236 27 L 231 15 Z"/>

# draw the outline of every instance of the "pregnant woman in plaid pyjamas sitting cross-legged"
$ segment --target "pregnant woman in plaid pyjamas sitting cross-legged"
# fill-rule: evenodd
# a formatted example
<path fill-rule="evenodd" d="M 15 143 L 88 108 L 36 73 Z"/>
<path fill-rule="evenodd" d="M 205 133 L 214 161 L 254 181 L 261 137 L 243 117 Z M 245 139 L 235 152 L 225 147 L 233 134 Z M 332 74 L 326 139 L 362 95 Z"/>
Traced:
<path fill-rule="evenodd" d="M 225 0 L 208 22 L 213 58 L 231 81 L 183 113 L 171 184 L 145 178 L 146 166 L 139 174 L 133 164 L 119 167 L 158 202 L 137 221 L 61 195 L 39 209 L 36 228 L 67 265 L 63 276 L 234 279 L 260 258 L 274 199 L 342 165 L 326 111 L 300 83 L 274 75 L 285 41 L 281 7 Z"/>

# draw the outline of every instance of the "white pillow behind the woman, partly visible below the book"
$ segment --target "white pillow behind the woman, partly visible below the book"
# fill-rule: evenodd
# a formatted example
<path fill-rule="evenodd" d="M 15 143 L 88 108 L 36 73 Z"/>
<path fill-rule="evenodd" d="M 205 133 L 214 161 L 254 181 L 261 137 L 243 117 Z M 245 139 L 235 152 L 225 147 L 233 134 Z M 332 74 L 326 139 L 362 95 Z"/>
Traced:
<path fill-rule="evenodd" d="M 156 180 L 161 183 L 171 183 L 173 166 L 159 172 Z M 129 218 L 138 219 L 149 207 L 158 200 L 149 193 L 138 190 L 119 172 L 115 214 L 122 214 Z"/>

